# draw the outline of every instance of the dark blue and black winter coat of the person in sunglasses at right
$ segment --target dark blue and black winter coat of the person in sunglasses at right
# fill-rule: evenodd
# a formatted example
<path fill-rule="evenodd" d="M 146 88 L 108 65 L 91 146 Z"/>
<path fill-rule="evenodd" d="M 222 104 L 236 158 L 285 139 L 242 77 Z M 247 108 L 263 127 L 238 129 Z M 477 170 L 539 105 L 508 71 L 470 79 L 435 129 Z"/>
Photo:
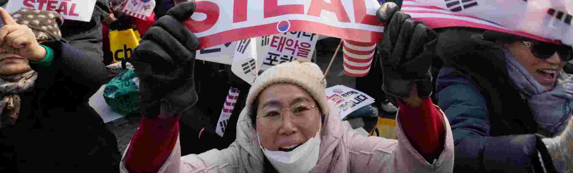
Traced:
<path fill-rule="evenodd" d="M 480 31 L 476 31 L 479 33 Z M 438 38 L 445 66 L 436 79 L 438 105 L 452 125 L 454 172 L 532 172 L 539 168 L 537 124 L 507 74 L 500 49 L 465 30 Z"/>

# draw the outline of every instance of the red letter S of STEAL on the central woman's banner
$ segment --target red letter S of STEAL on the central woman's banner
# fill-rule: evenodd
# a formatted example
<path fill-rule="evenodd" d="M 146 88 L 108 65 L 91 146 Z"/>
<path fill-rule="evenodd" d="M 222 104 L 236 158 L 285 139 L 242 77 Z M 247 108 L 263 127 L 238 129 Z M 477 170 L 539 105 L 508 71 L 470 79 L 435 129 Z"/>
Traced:
<path fill-rule="evenodd" d="M 183 23 L 193 33 L 201 33 L 211 29 L 219 20 L 219 6 L 216 3 L 209 1 L 195 2 L 195 13 L 205 13 L 207 18 L 203 21 L 195 21 L 190 18 Z"/>

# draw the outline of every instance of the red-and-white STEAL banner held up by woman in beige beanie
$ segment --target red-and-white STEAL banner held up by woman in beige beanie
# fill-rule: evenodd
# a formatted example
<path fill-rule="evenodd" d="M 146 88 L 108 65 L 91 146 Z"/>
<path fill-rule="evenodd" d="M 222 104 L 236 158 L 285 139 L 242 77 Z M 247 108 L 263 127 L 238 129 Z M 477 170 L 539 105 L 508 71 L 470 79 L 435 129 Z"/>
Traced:
<path fill-rule="evenodd" d="M 382 23 L 376 0 L 208 0 L 186 26 L 201 37 L 201 48 L 226 42 L 305 31 L 362 42 L 379 42 Z"/>

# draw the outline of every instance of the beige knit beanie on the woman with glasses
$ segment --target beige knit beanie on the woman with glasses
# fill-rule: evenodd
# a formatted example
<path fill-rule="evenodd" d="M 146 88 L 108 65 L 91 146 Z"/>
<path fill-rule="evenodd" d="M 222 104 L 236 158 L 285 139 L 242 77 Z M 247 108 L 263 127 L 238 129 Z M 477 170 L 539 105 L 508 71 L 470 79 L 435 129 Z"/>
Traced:
<path fill-rule="evenodd" d="M 266 87 L 278 83 L 289 83 L 305 89 L 319 104 L 323 115 L 328 115 L 329 107 L 324 93 L 326 82 L 320 81 L 323 77 L 322 70 L 312 62 L 293 61 L 272 66 L 254 81 L 247 96 L 247 105 L 256 109 L 257 105 L 253 105 L 253 102 Z"/>

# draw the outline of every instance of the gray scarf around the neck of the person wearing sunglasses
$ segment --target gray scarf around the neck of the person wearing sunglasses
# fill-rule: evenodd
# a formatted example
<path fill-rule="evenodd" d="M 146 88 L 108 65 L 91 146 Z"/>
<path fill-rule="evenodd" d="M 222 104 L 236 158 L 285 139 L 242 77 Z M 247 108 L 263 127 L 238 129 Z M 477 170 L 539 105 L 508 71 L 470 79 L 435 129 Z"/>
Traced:
<path fill-rule="evenodd" d="M 555 88 L 547 91 L 521 66 L 511 53 L 505 53 L 509 77 L 521 90 L 539 124 L 538 133 L 548 137 L 559 135 L 571 118 L 573 108 L 573 75 L 561 70 Z"/>

